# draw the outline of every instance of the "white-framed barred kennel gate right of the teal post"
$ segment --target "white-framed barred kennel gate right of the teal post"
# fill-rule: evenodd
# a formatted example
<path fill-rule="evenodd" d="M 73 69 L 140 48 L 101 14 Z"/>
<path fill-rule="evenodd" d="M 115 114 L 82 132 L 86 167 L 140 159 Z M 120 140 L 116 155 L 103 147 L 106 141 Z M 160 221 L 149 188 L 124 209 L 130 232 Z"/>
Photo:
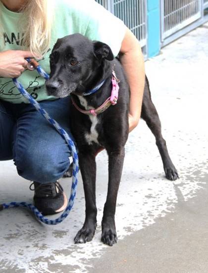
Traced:
<path fill-rule="evenodd" d="M 160 6 L 161 40 L 171 42 L 205 22 L 204 10 L 208 7 L 208 0 L 160 0 Z M 180 35 L 177 34 L 179 31 Z"/>

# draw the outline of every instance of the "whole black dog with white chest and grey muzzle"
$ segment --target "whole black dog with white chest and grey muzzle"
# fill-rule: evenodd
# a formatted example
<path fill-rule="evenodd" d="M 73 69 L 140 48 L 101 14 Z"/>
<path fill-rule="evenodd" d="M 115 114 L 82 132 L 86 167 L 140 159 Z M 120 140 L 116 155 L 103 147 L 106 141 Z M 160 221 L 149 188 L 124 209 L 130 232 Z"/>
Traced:
<path fill-rule="evenodd" d="M 96 208 L 96 154 L 104 148 L 108 154 L 108 191 L 102 220 L 102 241 L 112 246 L 117 241 L 115 230 L 116 198 L 121 178 L 124 146 L 128 138 L 129 86 L 120 62 L 113 58 L 110 48 L 101 42 L 92 42 L 80 34 L 58 39 L 50 56 L 51 75 L 46 86 L 50 95 L 71 95 L 70 125 L 79 151 L 79 164 L 84 183 L 86 218 L 75 237 L 75 243 L 91 241 L 97 225 Z M 117 104 L 109 106 L 98 115 L 89 115 L 78 109 L 97 109 L 111 96 L 112 71 L 119 82 Z M 104 81 L 104 82 L 103 82 Z M 99 84 L 103 85 L 99 88 Z M 95 87 L 99 90 L 86 95 Z M 86 95 L 86 96 L 84 96 Z M 60 109 L 61 110 L 61 109 Z M 148 79 L 142 105 L 142 118 L 156 137 L 165 175 L 170 180 L 178 178 L 177 170 L 167 152 L 161 135 L 156 108 L 151 100 Z"/>

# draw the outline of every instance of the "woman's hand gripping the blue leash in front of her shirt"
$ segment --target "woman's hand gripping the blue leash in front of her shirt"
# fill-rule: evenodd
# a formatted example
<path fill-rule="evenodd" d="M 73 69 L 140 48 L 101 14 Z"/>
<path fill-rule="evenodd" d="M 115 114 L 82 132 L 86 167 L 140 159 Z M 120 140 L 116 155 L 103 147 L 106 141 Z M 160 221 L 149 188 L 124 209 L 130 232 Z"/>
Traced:
<path fill-rule="evenodd" d="M 7 50 L 0 52 L 0 77 L 19 77 L 28 63 L 25 58 L 29 57 L 33 57 L 30 51 Z"/>

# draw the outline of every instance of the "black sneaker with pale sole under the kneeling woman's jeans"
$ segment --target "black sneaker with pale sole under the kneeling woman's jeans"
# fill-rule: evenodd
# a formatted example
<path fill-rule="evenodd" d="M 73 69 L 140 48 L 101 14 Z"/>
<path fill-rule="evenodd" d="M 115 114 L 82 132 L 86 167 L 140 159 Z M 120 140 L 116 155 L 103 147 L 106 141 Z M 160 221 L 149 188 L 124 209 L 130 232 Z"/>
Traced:
<path fill-rule="evenodd" d="M 30 190 L 35 191 L 34 204 L 43 215 L 60 213 L 67 207 L 66 195 L 58 181 L 46 184 L 33 182 Z"/>

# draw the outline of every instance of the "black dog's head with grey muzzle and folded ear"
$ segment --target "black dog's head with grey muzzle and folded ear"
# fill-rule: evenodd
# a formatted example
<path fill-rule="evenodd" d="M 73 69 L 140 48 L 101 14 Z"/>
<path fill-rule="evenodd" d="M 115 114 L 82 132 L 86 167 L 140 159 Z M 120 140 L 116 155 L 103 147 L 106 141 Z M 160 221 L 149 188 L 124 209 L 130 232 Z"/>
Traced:
<path fill-rule="evenodd" d="M 58 39 L 50 55 L 48 94 L 59 98 L 72 92 L 81 95 L 105 59 L 113 60 L 113 54 L 102 42 L 90 41 L 81 34 Z"/>

